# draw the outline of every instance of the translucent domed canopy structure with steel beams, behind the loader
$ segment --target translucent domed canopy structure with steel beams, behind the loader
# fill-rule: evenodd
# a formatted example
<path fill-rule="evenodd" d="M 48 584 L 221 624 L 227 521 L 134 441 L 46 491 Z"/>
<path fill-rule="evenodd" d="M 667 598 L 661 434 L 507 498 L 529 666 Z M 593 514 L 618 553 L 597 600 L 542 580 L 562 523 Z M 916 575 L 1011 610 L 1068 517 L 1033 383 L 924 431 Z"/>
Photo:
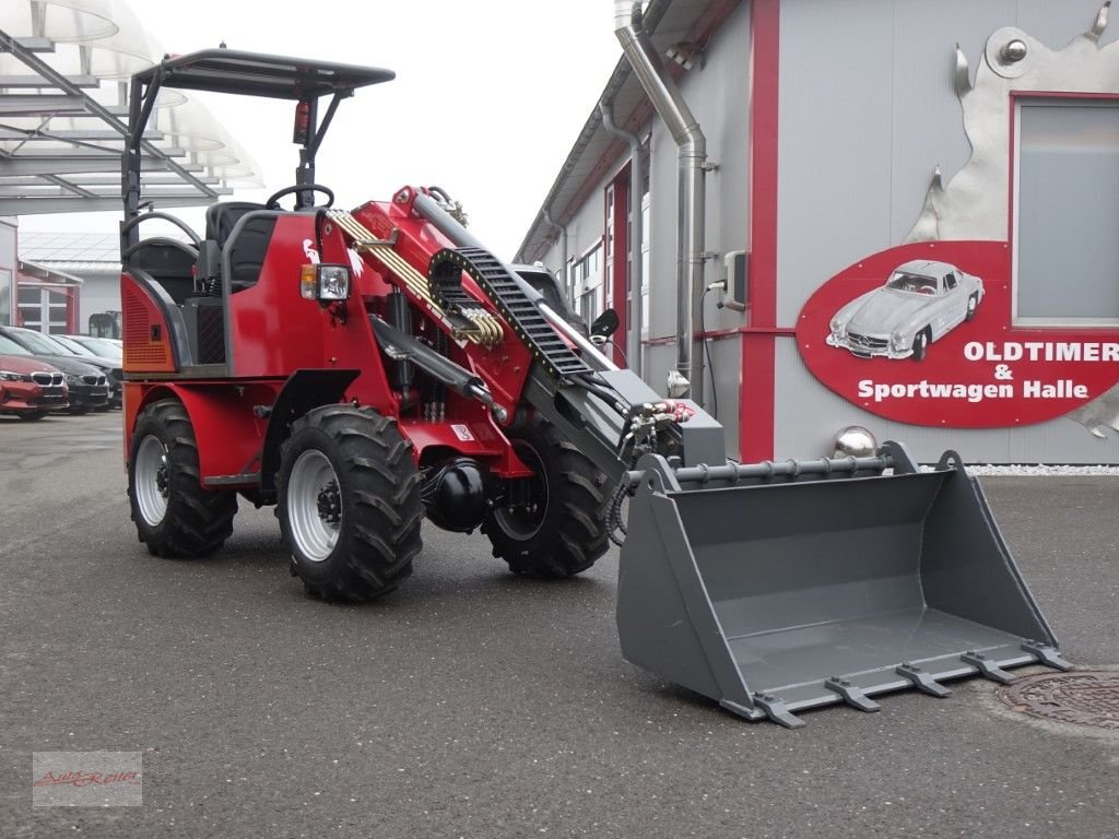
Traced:
<path fill-rule="evenodd" d="M 117 210 L 128 82 L 163 50 L 120 0 L 0 3 L 0 216 Z M 142 202 L 213 202 L 258 168 L 205 105 L 164 91 Z"/>

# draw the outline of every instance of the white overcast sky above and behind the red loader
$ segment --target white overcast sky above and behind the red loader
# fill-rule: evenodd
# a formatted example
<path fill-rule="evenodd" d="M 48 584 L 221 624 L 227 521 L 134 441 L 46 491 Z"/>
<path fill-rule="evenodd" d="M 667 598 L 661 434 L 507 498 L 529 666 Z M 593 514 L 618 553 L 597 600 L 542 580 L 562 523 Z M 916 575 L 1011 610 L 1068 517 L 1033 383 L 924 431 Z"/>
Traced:
<path fill-rule="evenodd" d="M 120 1 L 120 0 L 117 0 Z M 461 200 L 471 230 L 510 258 L 621 56 L 606 0 L 131 0 L 168 53 L 232 49 L 386 67 L 396 79 L 344 102 L 317 180 L 336 206 L 405 183 Z M 292 105 L 205 98 L 260 164 L 267 189 L 294 180 Z M 200 211 L 180 215 L 200 227 Z M 115 230 L 119 215 L 23 216 L 23 229 Z"/>

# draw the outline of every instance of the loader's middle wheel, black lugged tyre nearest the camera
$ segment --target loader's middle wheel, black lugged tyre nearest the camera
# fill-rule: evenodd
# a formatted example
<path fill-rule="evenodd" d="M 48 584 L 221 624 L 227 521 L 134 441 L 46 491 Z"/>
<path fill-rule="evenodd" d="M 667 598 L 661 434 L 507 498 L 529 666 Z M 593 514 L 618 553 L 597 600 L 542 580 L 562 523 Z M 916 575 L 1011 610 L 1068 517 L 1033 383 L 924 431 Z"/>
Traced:
<path fill-rule="evenodd" d="M 412 443 L 373 408 L 328 405 L 292 425 L 276 516 L 307 591 L 360 603 L 394 590 L 423 545 Z"/>

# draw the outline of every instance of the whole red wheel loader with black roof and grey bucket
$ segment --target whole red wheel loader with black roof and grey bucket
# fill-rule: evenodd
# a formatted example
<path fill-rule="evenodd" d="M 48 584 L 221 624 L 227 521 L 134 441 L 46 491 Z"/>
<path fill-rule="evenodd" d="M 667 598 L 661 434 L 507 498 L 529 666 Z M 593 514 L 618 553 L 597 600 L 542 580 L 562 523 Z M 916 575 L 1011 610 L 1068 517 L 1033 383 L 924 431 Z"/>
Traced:
<path fill-rule="evenodd" d="M 558 578 L 627 531 L 628 500 L 624 657 L 746 719 L 792 726 L 800 709 L 874 710 L 892 690 L 1066 667 L 952 453 L 932 471 L 894 443 L 728 462 L 718 423 L 615 367 L 441 190 L 332 207 L 314 181 L 331 117 L 392 77 L 228 49 L 133 77 L 125 460 L 150 553 L 213 554 L 238 498 L 274 505 L 308 592 L 366 601 L 412 573 L 425 519 L 481 530 L 515 574 Z M 172 87 L 294 103 L 295 182 L 264 204 L 214 204 L 203 234 L 141 213 L 158 200 L 141 179 L 144 126 Z M 141 236 L 153 218 L 190 244 Z"/>

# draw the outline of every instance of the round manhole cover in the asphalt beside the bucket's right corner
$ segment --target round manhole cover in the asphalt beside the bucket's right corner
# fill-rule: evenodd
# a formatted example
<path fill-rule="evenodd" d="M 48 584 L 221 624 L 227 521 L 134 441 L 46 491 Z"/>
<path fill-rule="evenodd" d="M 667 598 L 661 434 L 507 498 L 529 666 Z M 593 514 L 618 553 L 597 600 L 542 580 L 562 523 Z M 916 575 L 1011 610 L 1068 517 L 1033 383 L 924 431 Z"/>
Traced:
<path fill-rule="evenodd" d="M 998 697 L 1032 717 L 1119 730 L 1119 672 L 1026 676 L 999 688 Z"/>

